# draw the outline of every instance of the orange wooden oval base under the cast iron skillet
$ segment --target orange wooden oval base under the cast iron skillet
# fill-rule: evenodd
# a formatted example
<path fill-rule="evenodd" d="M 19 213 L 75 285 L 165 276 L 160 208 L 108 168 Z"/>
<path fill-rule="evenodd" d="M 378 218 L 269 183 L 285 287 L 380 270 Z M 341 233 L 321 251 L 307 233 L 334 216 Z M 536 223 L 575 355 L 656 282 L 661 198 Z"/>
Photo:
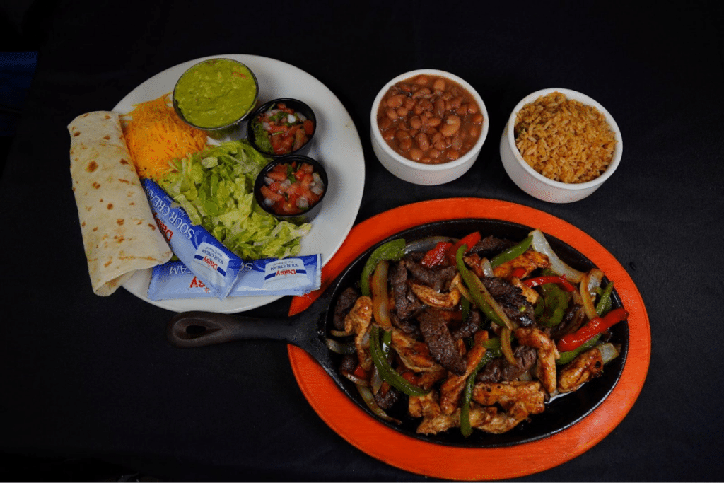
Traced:
<path fill-rule="evenodd" d="M 628 359 L 618 384 L 601 406 L 573 427 L 544 440 L 507 448 L 452 448 L 415 440 L 379 424 L 348 399 L 306 352 L 290 345 L 292 371 L 311 406 L 334 432 L 397 468 L 459 480 L 507 479 L 550 469 L 589 450 L 618 426 L 639 397 L 651 355 L 649 319 L 633 280 L 611 253 L 568 222 L 526 206 L 485 198 L 422 201 L 385 211 L 353 227 L 324 266 L 321 290 L 292 299 L 290 315 L 307 308 L 342 269 L 379 240 L 419 224 L 461 218 L 501 219 L 539 228 L 584 253 L 615 281 L 630 312 Z"/>

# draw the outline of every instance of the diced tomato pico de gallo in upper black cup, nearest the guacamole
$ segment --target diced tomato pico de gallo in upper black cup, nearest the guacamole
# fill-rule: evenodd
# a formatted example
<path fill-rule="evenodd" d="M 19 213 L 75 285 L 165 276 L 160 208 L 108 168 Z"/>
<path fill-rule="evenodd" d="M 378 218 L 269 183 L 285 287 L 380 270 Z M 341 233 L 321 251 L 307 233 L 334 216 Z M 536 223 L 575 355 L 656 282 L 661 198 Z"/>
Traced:
<path fill-rule="evenodd" d="M 272 105 L 254 119 L 256 146 L 269 154 L 289 154 L 308 143 L 314 123 L 287 104 Z"/>

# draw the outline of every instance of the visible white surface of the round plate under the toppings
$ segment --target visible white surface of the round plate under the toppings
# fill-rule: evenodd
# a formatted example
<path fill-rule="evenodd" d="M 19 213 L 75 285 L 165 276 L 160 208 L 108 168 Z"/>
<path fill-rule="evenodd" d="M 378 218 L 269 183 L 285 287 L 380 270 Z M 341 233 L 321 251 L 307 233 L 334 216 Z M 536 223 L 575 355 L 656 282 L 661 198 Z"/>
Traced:
<path fill-rule="evenodd" d="M 190 60 L 154 75 L 125 96 L 113 110 L 126 114 L 133 109 L 134 104 L 151 101 L 173 91 L 176 81 L 189 67 L 215 57 L 235 59 L 246 64 L 258 80 L 260 102 L 293 97 L 306 102 L 314 110 L 317 131 L 308 156 L 324 164 L 329 176 L 329 190 L 321 212 L 313 220 L 308 235 L 302 239 L 300 254 L 321 253 L 324 266 L 340 248 L 355 222 L 362 202 L 365 169 L 362 143 L 352 118 L 337 96 L 319 80 L 298 67 L 267 57 L 215 55 Z M 177 312 L 200 310 L 228 314 L 264 306 L 281 298 L 264 296 L 229 297 L 223 301 L 217 298 L 151 301 L 146 296 L 150 280 L 151 269 L 140 270 L 123 287 L 148 303 Z"/>

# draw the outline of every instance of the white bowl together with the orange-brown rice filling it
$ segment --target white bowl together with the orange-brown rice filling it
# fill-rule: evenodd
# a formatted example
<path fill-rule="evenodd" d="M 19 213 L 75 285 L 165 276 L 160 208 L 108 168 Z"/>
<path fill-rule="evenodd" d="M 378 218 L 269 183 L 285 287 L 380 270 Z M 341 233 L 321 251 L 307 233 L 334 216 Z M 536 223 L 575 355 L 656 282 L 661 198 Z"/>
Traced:
<path fill-rule="evenodd" d="M 597 101 L 570 89 L 529 94 L 515 106 L 500 138 L 510 179 L 534 198 L 571 203 L 613 175 L 623 141 L 615 120 Z"/>

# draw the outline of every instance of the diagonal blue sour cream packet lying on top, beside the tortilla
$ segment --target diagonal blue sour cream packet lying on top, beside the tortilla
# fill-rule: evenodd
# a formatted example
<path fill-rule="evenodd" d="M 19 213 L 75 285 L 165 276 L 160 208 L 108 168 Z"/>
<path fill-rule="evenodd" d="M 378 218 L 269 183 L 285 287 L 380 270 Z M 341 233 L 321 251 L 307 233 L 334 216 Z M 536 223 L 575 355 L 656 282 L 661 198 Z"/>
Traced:
<path fill-rule="evenodd" d="M 163 188 L 148 179 L 141 180 L 148 203 L 161 234 L 183 264 L 224 300 L 231 293 L 243 260 L 216 240 L 204 227 L 194 225 L 186 211 Z"/>

